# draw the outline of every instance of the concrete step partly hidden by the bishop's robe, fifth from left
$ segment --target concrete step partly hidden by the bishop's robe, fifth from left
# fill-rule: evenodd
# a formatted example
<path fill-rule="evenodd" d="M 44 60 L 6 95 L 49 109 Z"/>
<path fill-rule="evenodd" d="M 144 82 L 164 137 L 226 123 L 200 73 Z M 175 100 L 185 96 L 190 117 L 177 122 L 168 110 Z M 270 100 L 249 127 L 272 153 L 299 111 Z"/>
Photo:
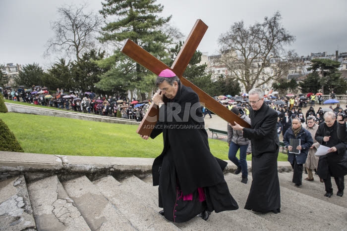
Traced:
<path fill-rule="evenodd" d="M 158 186 L 149 185 L 135 176 L 122 179 L 120 187 L 125 191 L 131 191 L 139 200 L 145 202 L 155 211 L 160 211 L 158 207 Z M 183 231 L 190 230 L 215 230 L 215 227 L 199 217 L 195 217 L 188 222 L 173 223 L 176 227 Z"/>

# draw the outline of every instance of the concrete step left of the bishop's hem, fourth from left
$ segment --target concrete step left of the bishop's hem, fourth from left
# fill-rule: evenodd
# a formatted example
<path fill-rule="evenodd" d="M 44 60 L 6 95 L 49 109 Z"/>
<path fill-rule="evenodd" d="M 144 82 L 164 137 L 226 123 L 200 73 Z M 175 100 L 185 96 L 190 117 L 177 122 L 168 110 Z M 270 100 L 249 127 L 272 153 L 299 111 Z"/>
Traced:
<path fill-rule="evenodd" d="M 112 176 L 94 181 L 93 184 L 137 230 L 179 230 L 156 210 L 142 203 L 142 200 L 133 195 L 131 190 L 124 190 Z"/>

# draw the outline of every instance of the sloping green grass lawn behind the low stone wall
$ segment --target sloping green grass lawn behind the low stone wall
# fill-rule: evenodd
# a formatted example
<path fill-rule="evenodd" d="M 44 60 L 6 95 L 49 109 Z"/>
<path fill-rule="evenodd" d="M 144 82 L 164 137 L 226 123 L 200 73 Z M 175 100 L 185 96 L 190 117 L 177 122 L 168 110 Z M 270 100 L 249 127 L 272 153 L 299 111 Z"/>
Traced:
<path fill-rule="evenodd" d="M 155 158 L 163 150 L 162 136 L 141 139 L 135 132 L 137 125 L 21 113 L 0 113 L 0 119 L 14 133 L 24 152 Z M 228 159 L 227 142 L 209 139 L 209 144 L 214 156 Z M 251 155 L 247 160 L 251 160 Z M 287 155 L 280 153 L 278 160 L 287 161 Z"/>

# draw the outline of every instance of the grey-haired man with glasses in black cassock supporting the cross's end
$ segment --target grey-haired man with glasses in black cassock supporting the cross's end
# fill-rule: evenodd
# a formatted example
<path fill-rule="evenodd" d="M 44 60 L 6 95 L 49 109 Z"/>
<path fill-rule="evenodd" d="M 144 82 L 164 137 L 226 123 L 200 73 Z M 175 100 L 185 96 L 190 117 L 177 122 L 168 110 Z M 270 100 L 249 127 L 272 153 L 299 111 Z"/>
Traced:
<path fill-rule="evenodd" d="M 235 123 L 232 129 L 242 130 L 252 143 L 252 185 L 245 209 L 279 213 L 281 208 L 277 157 L 280 149 L 277 136 L 277 112 L 264 103 L 263 91 L 249 91 L 251 128 Z"/>

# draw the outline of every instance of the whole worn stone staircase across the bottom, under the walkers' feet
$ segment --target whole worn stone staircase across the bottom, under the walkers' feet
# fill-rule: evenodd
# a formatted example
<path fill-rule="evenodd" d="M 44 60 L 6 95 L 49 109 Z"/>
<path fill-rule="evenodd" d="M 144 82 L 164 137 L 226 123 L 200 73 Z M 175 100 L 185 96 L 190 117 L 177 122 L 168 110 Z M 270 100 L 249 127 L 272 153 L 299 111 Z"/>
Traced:
<path fill-rule="evenodd" d="M 52 175 L 32 182 L 19 175 L 0 181 L 0 230 L 347 230 L 347 195 L 336 196 L 334 188 L 334 196 L 327 198 L 318 177 L 303 181 L 301 188 L 293 186 L 291 177 L 291 172 L 279 173 L 279 214 L 243 209 L 252 178 L 245 185 L 240 175 L 226 173 L 238 210 L 212 213 L 208 221 L 196 217 L 171 223 L 158 213 L 158 187 L 150 175 L 94 181 L 84 175 L 68 180 Z"/>

